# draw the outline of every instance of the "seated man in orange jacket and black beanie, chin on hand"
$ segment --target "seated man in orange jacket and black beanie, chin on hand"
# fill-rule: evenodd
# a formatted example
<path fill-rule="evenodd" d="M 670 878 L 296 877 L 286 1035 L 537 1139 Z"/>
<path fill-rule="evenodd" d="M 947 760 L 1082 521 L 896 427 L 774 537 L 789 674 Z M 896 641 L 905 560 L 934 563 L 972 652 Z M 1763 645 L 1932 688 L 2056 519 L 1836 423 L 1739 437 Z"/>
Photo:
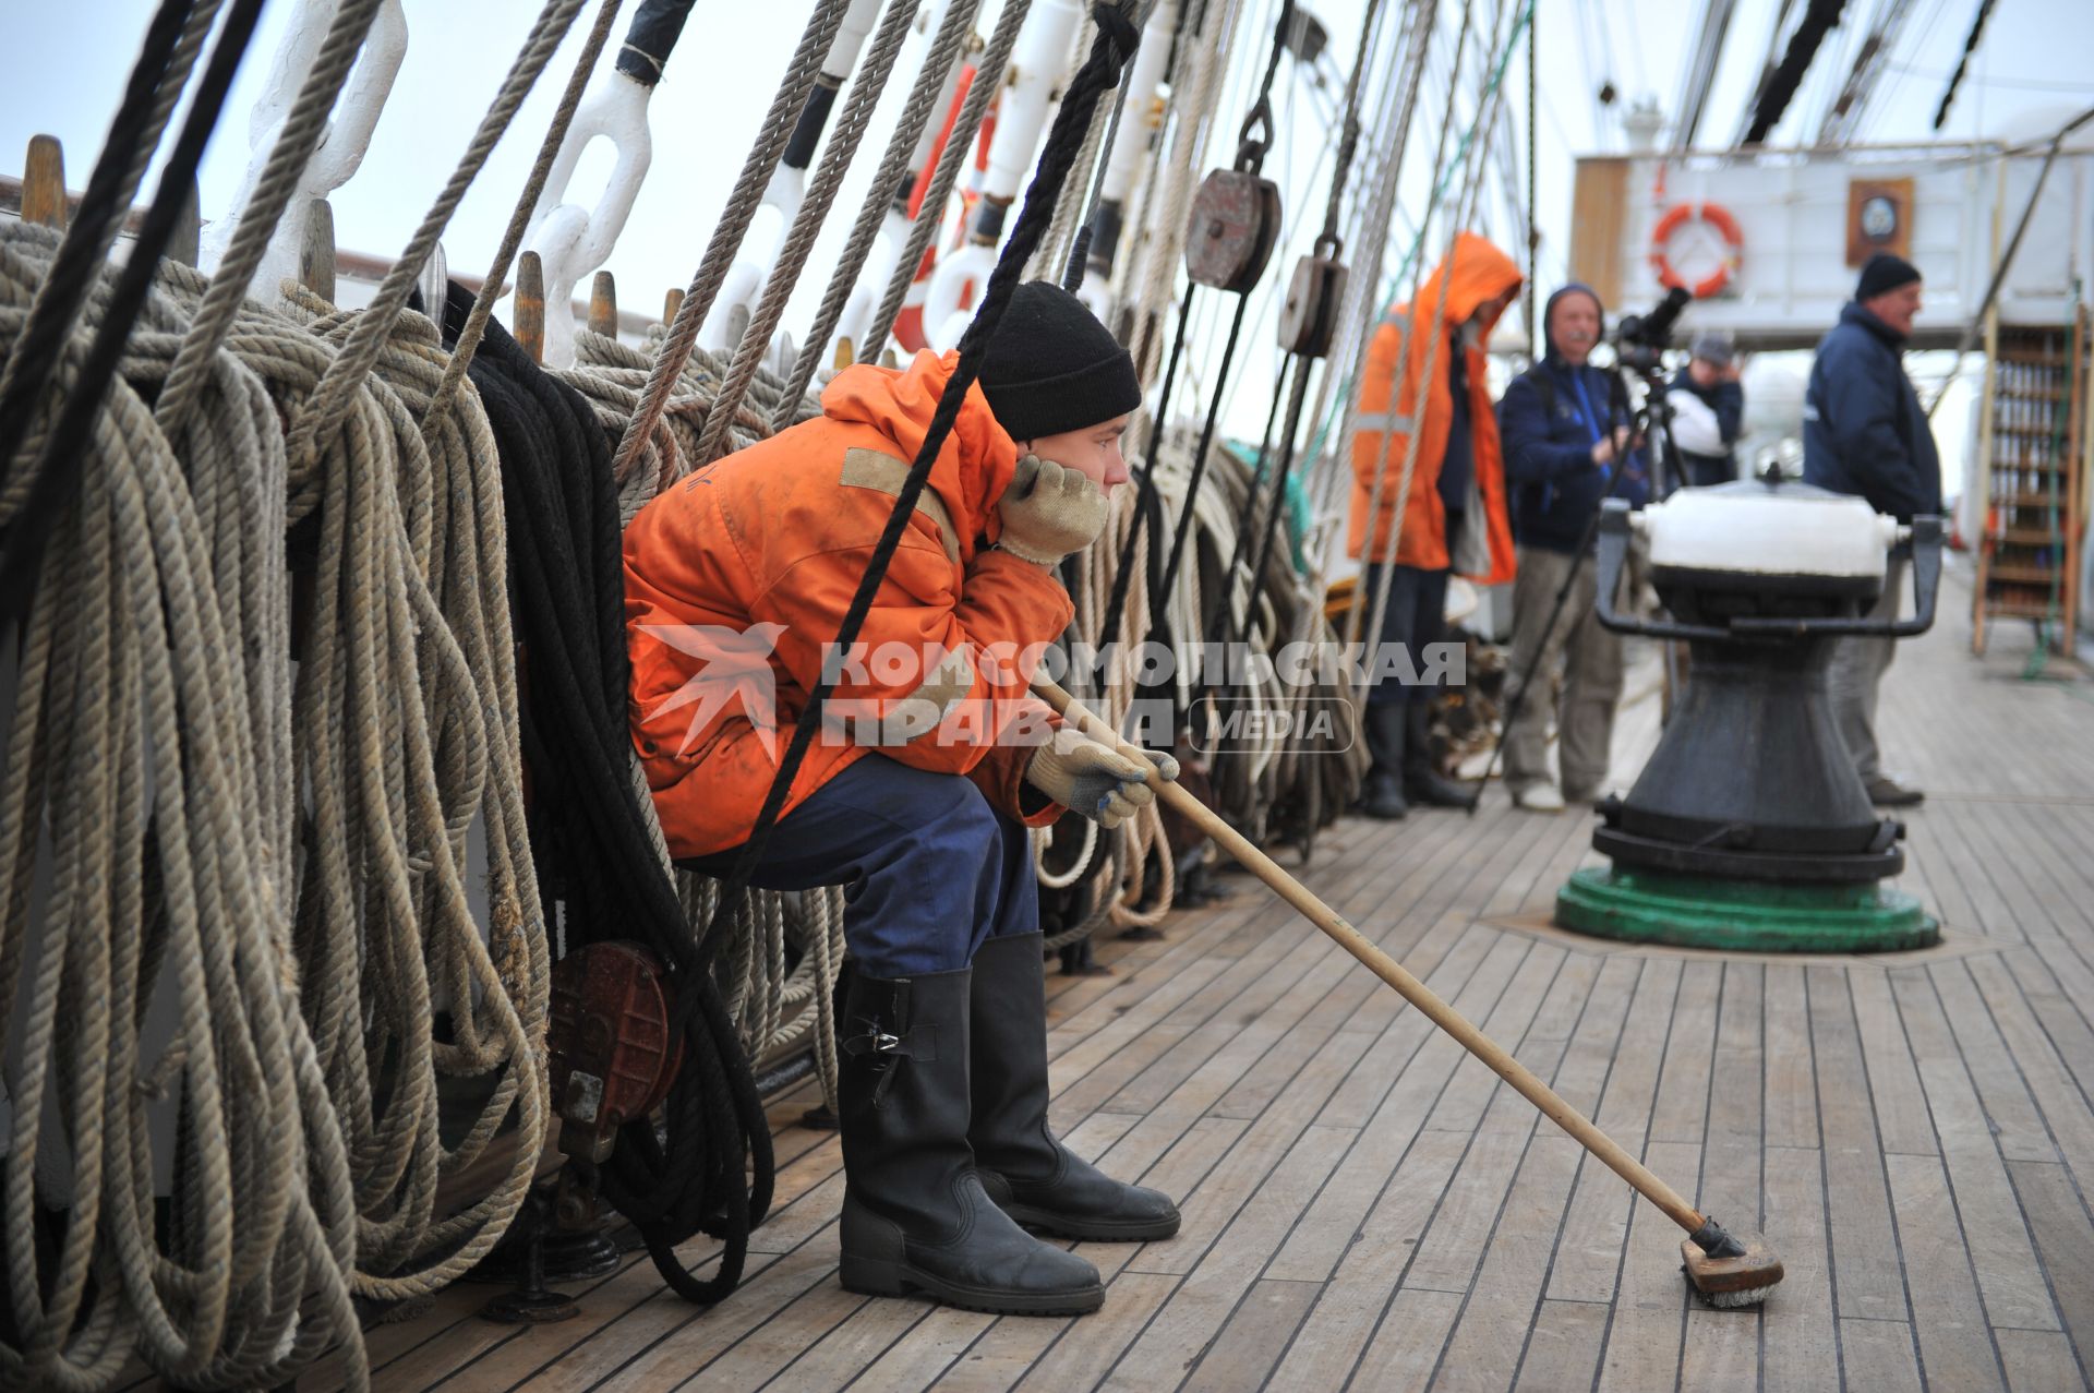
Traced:
<path fill-rule="evenodd" d="M 1026 1228 L 1154 1240 L 1154 1190 L 1047 1129 L 1047 1029 L 1026 825 L 1106 827 L 1145 769 L 1064 729 L 1026 683 L 1070 622 L 1055 578 L 1127 480 L 1133 360 L 1083 304 L 1020 285 L 909 517 L 859 643 L 833 639 L 957 364 L 861 364 L 823 415 L 729 455 L 624 534 L 632 739 L 678 865 L 727 876 L 825 670 L 764 888 L 842 884 L 842 1284 L 1003 1313 L 1097 1309 L 1089 1261 Z M 1177 775 L 1154 756 L 1162 777 Z"/>

